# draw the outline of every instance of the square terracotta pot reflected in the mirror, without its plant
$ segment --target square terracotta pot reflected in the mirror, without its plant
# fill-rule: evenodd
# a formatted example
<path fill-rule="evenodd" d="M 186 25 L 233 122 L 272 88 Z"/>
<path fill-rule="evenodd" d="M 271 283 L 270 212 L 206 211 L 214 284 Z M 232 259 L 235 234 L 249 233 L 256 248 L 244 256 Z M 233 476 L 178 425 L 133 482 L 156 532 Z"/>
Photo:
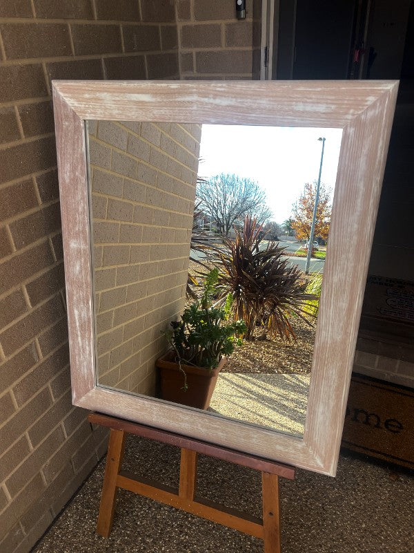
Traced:
<path fill-rule="evenodd" d="M 184 375 L 179 370 L 179 365 L 174 359 L 175 353 L 169 350 L 165 355 L 157 359 L 156 366 L 160 369 L 161 376 L 161 400 L 180 403 L 198 409 L 208 409 L 211 396 L 217 382 L 221 368 L 227 362 L 226 357 L 215 368 L 200 368 L 181 363 L 181 368 L 186 371 L 187 390 L 184 391 Z"/>

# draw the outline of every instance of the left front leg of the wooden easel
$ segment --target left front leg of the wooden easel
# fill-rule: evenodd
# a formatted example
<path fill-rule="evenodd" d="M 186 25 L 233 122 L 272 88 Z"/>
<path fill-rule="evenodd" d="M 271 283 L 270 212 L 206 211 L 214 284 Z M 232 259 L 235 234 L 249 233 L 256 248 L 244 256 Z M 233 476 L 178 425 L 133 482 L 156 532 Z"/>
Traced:
<path fill-rule="evenodd" d="M 97 524 L 97 532 L 104 538 L 108 538 L 112 529 L 112 521 L 115 512 L 115 500 L 117 498 L 117 476 L 119 470 L 121 469 L 122 458 L 124 457 L 124 448 L 124 431 L 111 429 Z"/>

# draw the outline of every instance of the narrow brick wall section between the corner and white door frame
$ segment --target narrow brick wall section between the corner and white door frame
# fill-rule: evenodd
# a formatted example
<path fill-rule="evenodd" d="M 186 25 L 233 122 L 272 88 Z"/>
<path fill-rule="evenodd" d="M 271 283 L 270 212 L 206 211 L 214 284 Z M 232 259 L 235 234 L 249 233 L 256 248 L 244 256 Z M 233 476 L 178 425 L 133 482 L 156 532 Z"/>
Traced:
<path fill-rule="evenodd" d="M 258 78 L 262 3 L 246 6 L 246 19 L 238 21 L 234 0 L 178 1 L 181 78 Z"/>

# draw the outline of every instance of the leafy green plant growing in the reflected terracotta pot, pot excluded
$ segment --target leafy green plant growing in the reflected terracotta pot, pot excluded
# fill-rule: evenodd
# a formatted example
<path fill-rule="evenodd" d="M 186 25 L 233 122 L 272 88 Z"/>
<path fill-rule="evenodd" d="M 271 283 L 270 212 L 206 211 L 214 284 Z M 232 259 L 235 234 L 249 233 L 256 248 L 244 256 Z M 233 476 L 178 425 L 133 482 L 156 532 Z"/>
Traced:
<path fill-rule="evenodd" d="M 237 336 L 246 332 L 244 321 L 228 320 L 226 307 L 212 306 L 217 279 L 218 270 L 211 270 L 206 275 L 201 298 L 184 310 L 180 321 L 172 321 L 172 328 L 165 332 L 184 377 L 181 363 L 214 368 L 221 357 L 233 353 Z"/>

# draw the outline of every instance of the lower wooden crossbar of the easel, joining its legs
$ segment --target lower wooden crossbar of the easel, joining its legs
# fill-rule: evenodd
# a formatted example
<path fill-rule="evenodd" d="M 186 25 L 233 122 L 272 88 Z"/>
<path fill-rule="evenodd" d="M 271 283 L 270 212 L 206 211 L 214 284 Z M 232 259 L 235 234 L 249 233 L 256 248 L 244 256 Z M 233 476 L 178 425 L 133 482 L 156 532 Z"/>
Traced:
<path fill-rule="evenodd" d="M 126 471 L 121 471 L 117 476 L 117 487 L 263 539 L 262 518 L 250 516 L 236 509 L 229 509 L 204 498 L 195 497 L 194 500 L 188 500 L 179 496 L 177 488 L 159 485 L 159 482 L 147 478 L 132 477 Z"/>

